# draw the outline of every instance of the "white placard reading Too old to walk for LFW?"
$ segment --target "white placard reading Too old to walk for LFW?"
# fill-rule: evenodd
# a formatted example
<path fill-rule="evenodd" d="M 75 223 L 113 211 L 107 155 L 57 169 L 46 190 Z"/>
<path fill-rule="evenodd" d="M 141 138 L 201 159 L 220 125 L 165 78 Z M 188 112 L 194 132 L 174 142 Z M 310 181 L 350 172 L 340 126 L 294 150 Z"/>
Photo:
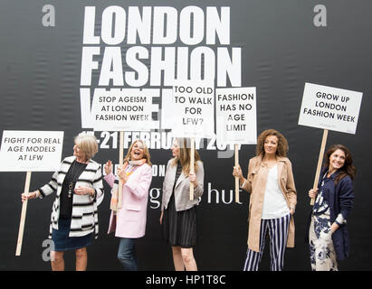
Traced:
<path fill-rule="evenodd" d="M 215 135 L 215 87 L 205 82 L 182 81 L 173 86 L 172 135 L 205 137 Z"/>

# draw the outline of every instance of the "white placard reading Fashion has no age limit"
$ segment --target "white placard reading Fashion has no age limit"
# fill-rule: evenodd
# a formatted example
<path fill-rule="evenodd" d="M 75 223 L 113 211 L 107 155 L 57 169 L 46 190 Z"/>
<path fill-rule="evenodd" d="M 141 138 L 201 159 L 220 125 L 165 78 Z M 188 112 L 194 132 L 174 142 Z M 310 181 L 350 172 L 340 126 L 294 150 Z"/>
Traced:
<path fill-rule="evenodd" d="M 256 88 L 215 89 L 217 144 L 257 144 Z"/>

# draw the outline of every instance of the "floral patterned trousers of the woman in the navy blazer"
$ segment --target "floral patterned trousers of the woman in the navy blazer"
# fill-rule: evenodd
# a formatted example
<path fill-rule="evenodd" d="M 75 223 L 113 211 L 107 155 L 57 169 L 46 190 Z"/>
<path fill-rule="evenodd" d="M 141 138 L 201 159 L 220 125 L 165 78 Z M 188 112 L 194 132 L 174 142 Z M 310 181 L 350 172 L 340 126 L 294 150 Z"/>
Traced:
<path fill-rule="evenodd" d="M 311 216 L 309 245 L 312 271 L 338 271 L 330 230 L 329 210 L 320 215 Z"/>

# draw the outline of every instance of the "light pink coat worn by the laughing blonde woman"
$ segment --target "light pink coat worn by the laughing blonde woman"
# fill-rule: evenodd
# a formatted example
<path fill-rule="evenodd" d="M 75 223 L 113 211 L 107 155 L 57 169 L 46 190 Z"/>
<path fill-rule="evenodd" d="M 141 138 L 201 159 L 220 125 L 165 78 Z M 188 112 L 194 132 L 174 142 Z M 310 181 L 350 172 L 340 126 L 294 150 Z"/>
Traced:
<path fill-rule="evenodd" d="M 112 188 L 115 176 L 110 173 L 104 177 Z M 111 211 L 108 234 L 113 231 L 119 238 L 141 238 L 145 236 L 148 210 L 148 189 L 152 179 L 152 169 L 144 163 L 129 175 L 122 191 L 122 208 L 118 218 Z"/>

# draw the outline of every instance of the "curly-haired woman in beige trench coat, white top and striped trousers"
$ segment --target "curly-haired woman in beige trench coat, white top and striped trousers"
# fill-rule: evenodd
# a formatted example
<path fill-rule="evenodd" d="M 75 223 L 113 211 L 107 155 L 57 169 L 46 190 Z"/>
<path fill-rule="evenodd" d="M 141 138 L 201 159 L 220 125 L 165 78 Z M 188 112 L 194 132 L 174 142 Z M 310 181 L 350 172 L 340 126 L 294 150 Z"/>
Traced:
<path fill-rule="evenodd" d="M 262 258 L 266 233 L 270 236 L 271 270 L 281 271 L 285 247 L 294 247 L 293 213 L 297 195 L 286 157 L 287 140 L 268 129 L 259 135 L 256 156 L 249 161 L 247 179 L 234 167 L 243 190 L 251 192 L 249 204 L 248 250 L 244 271 L 257 271 Z"/>

